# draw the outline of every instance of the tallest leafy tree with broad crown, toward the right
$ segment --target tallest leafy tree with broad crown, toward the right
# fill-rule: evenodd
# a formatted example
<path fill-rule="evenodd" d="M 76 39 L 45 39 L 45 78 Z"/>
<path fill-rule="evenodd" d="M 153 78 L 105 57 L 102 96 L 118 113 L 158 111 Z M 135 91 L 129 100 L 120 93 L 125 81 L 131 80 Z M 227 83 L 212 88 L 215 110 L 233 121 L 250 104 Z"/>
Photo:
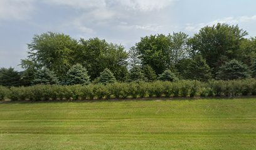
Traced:
<path fill-rule="evenodd" d="M 239 57 L 240 42 L 246 35 L 238 26 L 218 23 L 200 29 L 189 44 L 193 53 L 200 53 L 215 73 L 226 61 Z"/>

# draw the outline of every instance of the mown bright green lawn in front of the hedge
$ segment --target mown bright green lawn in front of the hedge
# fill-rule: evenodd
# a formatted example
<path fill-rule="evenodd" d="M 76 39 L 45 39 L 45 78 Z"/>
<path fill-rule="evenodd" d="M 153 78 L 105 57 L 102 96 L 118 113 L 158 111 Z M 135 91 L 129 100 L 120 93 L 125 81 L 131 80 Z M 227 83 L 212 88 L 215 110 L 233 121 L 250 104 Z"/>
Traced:
<path fill-rule="evenodd" d="M 256 98 L 0 103 L 0 149 L 256 149 Z"/>

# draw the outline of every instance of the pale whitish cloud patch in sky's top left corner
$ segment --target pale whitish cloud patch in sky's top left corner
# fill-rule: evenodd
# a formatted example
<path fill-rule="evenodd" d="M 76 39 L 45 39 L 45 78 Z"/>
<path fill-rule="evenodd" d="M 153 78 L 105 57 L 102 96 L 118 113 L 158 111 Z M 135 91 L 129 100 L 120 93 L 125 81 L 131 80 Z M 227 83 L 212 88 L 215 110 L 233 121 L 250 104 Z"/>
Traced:
<path fill-rule="evenodd" d="M 1 0 L 0 20 L 28 19 L 34 11 L 33 0 Z"/>

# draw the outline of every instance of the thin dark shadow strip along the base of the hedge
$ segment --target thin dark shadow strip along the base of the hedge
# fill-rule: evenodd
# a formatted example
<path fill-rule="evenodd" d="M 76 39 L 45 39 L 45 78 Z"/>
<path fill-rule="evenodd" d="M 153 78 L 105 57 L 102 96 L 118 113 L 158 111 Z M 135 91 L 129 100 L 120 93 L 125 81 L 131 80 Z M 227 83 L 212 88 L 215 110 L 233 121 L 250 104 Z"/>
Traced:
<path fill-rule="evenodd" d="M 218 96 L 218 97 L 194 97 L 194 98 L 184 98 L 184 97 L 152 97 L 152 98 L 125 98 L 125 99 L 116 99 L 116 98 L 110 98 L 110 99 L 86 99 L 86 100 L 48 100 L 48 101 L 0 101 L 0 104 L 38 104 L 38 103 L 101 103 L 101 102 L 109 102 L 109 103 L 115 103 L 115 102 L 124 102 L 124 101 L 196 101 L 200 99 L 205 100 L 227 100 L 227 99 L 252 99 L 256 96 L 236 96 L 236 97 L 228 97 L 228 96 Z"/>

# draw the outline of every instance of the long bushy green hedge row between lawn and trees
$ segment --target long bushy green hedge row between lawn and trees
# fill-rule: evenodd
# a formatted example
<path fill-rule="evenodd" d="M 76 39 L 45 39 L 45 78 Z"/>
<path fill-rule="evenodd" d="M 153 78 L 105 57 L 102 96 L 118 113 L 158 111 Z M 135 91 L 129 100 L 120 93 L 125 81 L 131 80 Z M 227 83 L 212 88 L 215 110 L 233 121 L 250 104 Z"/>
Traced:
<path fill-rule="evenodd" d="M 110 99 L 144 97 L 213 97 L 256 95 L 256 79 L 236 81 L 156 81 L 154 83 L 90 84 L 88 86 L 36 85 L 19 88 L 0 86 L 0 99 L 47 101 L 57 99 Z"/>

